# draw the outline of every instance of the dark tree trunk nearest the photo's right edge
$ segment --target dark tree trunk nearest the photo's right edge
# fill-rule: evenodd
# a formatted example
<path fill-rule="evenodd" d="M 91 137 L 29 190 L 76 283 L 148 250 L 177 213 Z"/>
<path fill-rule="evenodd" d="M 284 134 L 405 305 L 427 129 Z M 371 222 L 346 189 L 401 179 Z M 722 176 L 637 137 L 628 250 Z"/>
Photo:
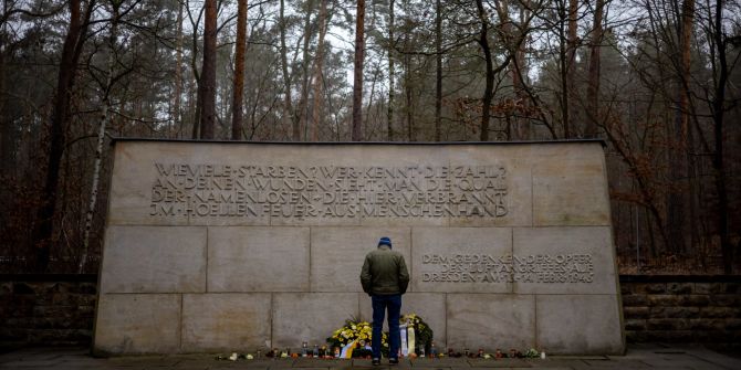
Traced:
<path fill-rule="evenodd" d="M 734 252 L 731 245 L 731 239 L 728 230 L 729 209 L 728 209 L 728 189 L 726 180 L 726 163 L 723 161 L 723 119 L 726 114 L 726 85 L 728 83 L 728 61 L 726 60 L 727 41 L 723 38 L 723 2 L 716 2 L 713 20 L 713 47 L 717 47 L 718 82 L 716 85 L 716 96 L 712 101 L 712 120 L 713 137 L 716 141 L 716 152 L 712 157 L 712 168 L 716 178 L 716 191 L 718 192 L 718 233 L 720 234 L 721 253 L 723 256 L 723 272 L 733 273 Z"/>

